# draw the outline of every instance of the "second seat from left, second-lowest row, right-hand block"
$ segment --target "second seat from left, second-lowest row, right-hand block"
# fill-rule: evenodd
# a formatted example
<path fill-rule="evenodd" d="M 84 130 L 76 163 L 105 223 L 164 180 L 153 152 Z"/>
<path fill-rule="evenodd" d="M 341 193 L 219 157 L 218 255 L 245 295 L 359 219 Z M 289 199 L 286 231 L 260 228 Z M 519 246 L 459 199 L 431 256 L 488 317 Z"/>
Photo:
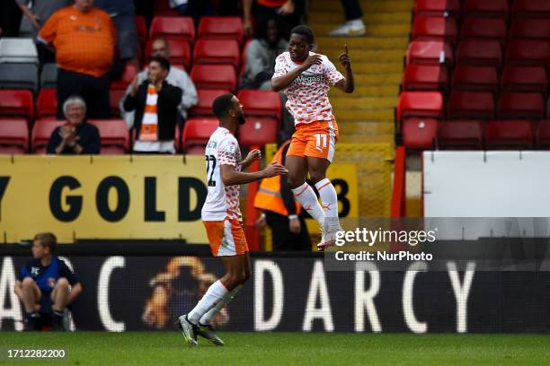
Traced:
<path fill-rule="evenodd" d="M 494 97 L 490 92 L 451 92 L 448 118 L 494 118 Z"/>

